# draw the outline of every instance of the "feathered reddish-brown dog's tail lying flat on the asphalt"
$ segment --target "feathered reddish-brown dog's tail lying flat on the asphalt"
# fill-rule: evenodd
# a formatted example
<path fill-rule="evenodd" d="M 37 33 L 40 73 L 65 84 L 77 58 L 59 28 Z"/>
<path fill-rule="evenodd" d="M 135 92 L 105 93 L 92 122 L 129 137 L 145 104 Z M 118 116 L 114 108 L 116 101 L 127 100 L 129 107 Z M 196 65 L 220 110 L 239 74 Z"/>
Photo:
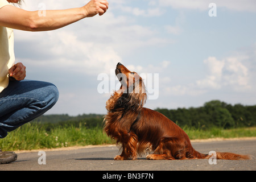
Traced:
<path fill-rule="evenodd" d="M 247 160 L 251 159 L 250 155 L 241 155 L 241 154 L 233 154 L 230 152 L 210 152 L 209 154 L 201 154 L 200 152 L 195 151 L 197 158 L 199 159 L 224 159 L 224 160 Z"/>

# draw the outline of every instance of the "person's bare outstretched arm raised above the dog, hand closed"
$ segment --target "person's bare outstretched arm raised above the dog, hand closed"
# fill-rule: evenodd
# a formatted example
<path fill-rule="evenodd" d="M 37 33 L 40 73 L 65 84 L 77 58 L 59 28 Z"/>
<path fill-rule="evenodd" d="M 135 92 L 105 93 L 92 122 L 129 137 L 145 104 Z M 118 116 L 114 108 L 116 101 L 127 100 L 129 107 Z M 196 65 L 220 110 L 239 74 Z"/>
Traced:
<path fill-rule="evenodd" d="M 26 11 L 15 6 L 0 9 L 0 26 L 26 31 L 48 31 L 67 26 L 80 19 L 108 10 L 108 1 L 91 0 L 87 5 L 68 10 L 46 10 L 45 16 L 39 11 Z"/>

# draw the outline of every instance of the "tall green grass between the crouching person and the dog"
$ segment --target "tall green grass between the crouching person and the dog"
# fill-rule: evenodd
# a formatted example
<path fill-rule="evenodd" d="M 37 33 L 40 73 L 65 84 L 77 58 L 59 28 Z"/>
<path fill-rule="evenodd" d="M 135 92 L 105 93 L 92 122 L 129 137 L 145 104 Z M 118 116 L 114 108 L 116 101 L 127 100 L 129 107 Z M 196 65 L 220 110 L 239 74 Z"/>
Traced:
<path fill-rule="evenodd" d="M 36 123 L 27 123 L 0 139 L 0 148 L 7 150 L 34 150 L 113 143 L 101 127 L 53 127 L 51 130 Z"/>

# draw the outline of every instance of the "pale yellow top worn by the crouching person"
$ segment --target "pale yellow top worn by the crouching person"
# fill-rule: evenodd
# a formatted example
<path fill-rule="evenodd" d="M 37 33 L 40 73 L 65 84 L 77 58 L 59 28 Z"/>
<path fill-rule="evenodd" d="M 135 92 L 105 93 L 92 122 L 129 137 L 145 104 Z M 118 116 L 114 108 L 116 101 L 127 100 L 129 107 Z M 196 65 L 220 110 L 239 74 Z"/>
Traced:
<path fill-rule="evenodd" d="M 0 9 L 6 5 L 10 5 L 10 3 L 6 0 L 0 0 Z M 14 65 L 14 61 L 13 29 L 0 26 L 0 92 L 9 84 L 8 73 Z"/>

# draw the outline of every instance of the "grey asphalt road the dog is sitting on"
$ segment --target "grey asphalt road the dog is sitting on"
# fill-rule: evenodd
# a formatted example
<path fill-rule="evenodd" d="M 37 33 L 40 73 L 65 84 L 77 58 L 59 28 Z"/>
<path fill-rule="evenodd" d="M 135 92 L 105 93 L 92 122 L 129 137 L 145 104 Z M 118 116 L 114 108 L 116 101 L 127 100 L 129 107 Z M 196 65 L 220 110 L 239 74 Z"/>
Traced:
<path fill-rule="evenodd" d="M 256 156 L 256 140 L 224 140 L 215 142 L 193 142 L 192 146 L 199 152 L 209 151 L 234 152 Z M 256 159 L 251 160 L 217 160 L 210 165 L 208 159 L 195 160 L 146 160 L 145 156 L 137 160 L 115 161 L 120 154 L 115 146 L 82 148 L 67 151 L 46 151 L 18 154 L 18 159 L 10 164 L 0 165 L 0 171 L 234 171 L 256 170 Z M 43 158 L 45 156 L 45 158 Z M 44 160 L 45 159 L 45 160 Z M 39 164 L 46 162 L 46 164 Z M 109 174 L 108 174 L 109 175 Z M 102 177 L 102 176 L 100 176 Z M 106 176 L 105 176 L 106 177 Z M 112 176 L 113 177 L 113 176 Z"/>

